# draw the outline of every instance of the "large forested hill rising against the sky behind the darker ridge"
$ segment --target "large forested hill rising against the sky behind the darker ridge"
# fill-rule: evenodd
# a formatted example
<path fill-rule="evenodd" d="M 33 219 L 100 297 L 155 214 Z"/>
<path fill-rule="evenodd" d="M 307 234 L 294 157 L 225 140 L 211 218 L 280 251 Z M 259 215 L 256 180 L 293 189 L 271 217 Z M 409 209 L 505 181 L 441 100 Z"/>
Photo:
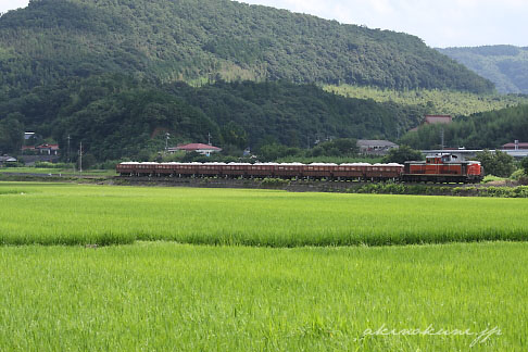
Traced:
<path fill-rule="evenodd" d="M 417 37 L 229 0 L 34 0 L 0 17 L 4 93 L 108 72 L 162 83 L 493 89 Z"/>

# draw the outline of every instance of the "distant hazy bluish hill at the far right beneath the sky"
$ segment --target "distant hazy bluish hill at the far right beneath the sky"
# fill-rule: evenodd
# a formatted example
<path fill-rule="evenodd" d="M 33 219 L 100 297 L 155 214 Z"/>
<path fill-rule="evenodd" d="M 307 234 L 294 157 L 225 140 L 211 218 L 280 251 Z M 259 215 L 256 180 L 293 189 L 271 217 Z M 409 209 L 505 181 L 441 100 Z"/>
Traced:
<path fill-rule="evenodd" d="M 438 51 L 490 79 L 500 92 L 528 93 L 528 47 L 487 46 Z"/>

